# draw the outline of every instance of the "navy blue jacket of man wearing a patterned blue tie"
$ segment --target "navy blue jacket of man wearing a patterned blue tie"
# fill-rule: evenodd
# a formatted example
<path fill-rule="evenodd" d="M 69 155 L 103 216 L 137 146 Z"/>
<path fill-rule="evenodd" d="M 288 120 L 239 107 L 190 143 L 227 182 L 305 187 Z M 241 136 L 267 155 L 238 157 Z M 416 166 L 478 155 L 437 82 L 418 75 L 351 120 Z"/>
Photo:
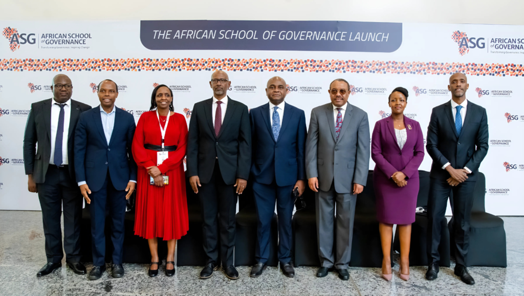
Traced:
<path fill-rule="evenodd" d="M 269 103 L 251 109 L 252 166 L 255 182 L 289 186 L 305 177 L 304 111 L 286 103 L 278 140 L 275 141 L 269 118 Z"/>

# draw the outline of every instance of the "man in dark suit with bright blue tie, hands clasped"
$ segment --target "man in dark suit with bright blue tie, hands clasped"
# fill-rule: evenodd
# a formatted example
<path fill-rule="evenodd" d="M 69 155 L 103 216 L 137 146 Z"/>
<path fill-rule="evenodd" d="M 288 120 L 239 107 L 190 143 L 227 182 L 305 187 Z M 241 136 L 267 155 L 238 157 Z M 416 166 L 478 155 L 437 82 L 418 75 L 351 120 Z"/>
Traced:
<path fill-rule="evenodd" d="M 438 276 L 440 221 L 453 191 L 455 275 L 467 284 L 475 283 L 466 269 L 466 259 L 473 189 L 478 167 L 488 152 L 488 119 L 486 109 L 466 100 L 468 87 L 465 74 L 451 75 L 447 86 L 451 101 L 433 108 L 428 126 L 426 149 L 433 159 L 428 200 L 428 280 Z"/>

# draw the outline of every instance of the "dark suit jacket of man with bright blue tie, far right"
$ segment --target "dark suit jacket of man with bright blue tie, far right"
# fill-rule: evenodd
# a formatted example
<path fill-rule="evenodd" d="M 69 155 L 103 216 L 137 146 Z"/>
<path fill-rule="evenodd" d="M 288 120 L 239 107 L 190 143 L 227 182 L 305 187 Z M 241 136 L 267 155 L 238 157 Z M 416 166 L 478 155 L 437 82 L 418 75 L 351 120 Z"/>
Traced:
<path fill-rule="evenodd" d="M 486 109 L 468 101 L 466 118 L 458 136 L 455 118 L 451 112 L 451 101 L 434 107 L 428 126 L 426 149 L 433 159 L 431 178 L 450 178 L 450 174 L 442 169 L 449 162 L 455 169 L 467 167 L 472 171 L 468 180 L 476 180 L 478 167 L 488 152 Z"/>

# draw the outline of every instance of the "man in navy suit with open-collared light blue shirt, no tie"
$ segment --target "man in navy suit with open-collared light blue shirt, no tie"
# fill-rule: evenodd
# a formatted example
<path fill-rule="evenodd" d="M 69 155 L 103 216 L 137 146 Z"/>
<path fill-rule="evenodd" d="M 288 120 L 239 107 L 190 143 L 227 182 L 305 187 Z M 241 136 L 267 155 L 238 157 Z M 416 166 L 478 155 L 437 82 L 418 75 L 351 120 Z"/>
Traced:
<path fill-rule="evenodd" d="M 122 250 L 126 200 L 135 190 L 136 163 L 131 153 L 133 115 L 115 107 L 118 86 L 104 80 L 98 86 L 100 105 L 80 115 L 74 135 L 75 173 L 91 214 L 93 269 L 90 280 L 105 271 L 105 216 L 108 207 L 113 242 L 114 278 L 124 276 Z"/>

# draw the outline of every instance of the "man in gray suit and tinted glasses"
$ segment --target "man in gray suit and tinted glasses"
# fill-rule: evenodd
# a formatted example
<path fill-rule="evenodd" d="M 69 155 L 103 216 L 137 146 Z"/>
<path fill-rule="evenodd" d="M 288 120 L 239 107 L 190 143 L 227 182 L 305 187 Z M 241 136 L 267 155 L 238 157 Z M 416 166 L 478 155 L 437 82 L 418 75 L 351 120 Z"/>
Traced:
<path fill-rule="evenodd" d="M 366 185 L 369 170 L 369 122 L 367 113 L 347 103 L 350 84 L 336 79 L 330 84 L 331 103 L 311 111 L 305 142 L 309 188 L 316 192 L 316 234 L 320 269 L 325 277 L 333 267 L 348 280 L 353 218 L 358 193 Z M 336 255 L 333 225 L 336 203 Z"/>

